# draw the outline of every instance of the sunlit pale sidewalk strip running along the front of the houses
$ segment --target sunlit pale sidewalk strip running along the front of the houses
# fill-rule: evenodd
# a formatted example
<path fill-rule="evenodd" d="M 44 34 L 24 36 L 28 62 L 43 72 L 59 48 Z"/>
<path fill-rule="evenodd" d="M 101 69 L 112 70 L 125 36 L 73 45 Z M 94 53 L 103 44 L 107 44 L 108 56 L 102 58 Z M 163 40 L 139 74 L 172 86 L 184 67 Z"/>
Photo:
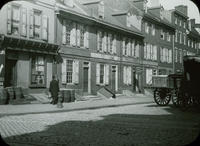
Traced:
<path fill-rule="evenodd" d="M 146 95 L 135 95 L 134 97 L 118 96 L 115 99 L 90 99 L 63 103 L 63 108 L 57 108 L 52 104 L 24 104 L 24 105 L 0 105 L 0 116 L 13 114 L 33 114 L 45 112 L 66 112 L 73 110 L 98 109 L 106 107 L 117 107 L 134 104 L 152 103 L 153 97 Z"/>

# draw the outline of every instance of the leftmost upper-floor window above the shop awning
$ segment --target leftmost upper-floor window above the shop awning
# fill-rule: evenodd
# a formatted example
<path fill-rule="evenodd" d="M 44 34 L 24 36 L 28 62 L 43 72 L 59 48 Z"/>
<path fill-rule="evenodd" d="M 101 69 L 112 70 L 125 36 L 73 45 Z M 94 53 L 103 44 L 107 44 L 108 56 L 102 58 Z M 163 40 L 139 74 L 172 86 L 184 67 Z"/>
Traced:
<path fill-rule="evenodd" d="M 7 20 L 7 33 L 18 35 L 20 28 L 20 6 L 8 5 Z"/>

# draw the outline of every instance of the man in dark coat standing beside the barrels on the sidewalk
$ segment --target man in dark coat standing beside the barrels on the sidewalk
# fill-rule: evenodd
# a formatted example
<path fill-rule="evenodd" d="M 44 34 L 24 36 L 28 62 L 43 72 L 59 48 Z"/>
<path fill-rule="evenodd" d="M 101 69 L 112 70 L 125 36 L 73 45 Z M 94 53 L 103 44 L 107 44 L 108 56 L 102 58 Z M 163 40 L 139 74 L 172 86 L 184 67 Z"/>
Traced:
<path fill-rule="evenodd" d="M 53 98 L 52 104 L 57 104 L 59 84 L 55 76 L 52 77 L 52 81 L 50 82 L 49 92 L 51 93 L 51 97 Z"/>

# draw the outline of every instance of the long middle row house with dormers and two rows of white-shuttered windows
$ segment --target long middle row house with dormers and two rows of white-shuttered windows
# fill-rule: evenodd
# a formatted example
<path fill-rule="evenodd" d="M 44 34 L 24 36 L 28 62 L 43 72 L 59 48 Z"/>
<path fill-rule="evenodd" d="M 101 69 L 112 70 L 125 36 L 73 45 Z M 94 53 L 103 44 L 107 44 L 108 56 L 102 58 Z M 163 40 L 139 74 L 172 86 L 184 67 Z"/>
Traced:
<path fill-rule="evenodd" d="M 142 69 L 143 35 L 127 21 L 120 22 L 131 12 L 114 11 L 105 3 L 57 3 L 57 41 L 63 57 L 58 67 L 61 86 L 83 95 L 96 94 L 102 87 L 115 93 L 141 91 L 142 76 L 137 70 Z"/>

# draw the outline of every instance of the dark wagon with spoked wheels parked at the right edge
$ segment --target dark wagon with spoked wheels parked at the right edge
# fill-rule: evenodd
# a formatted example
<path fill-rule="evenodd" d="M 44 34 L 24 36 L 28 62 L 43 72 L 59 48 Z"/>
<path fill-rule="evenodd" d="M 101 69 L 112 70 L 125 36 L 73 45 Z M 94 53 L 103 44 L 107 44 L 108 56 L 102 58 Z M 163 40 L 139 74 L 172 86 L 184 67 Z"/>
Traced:
<path fill-rule="evenodd" d="M 184 56 L 182 74 L 152 76 L 154 100 L 158 105 L 183 109 L 200 104 L 200 56 Z"/>

